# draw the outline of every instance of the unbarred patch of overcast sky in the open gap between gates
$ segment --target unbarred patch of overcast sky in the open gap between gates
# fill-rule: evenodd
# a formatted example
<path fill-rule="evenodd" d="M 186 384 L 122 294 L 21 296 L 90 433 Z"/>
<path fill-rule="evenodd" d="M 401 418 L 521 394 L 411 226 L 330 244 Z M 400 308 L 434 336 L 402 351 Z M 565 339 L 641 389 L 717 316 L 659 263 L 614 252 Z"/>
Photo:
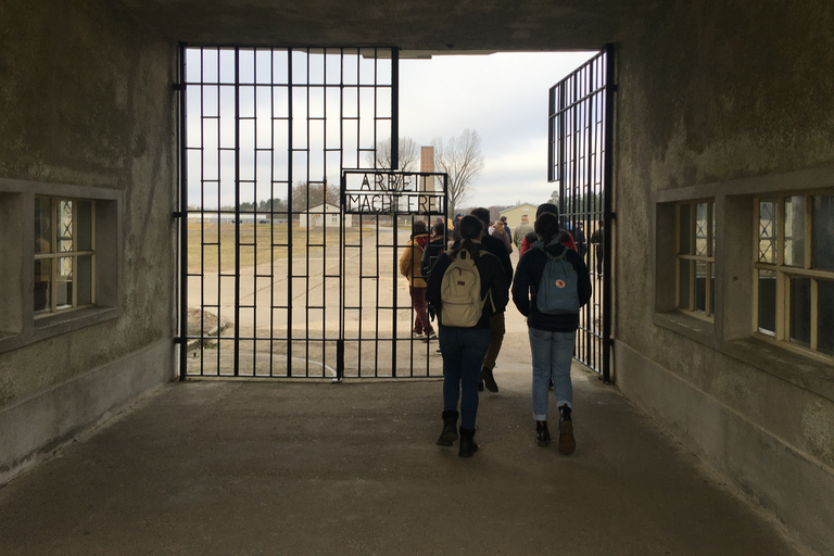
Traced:
<path fill-rule="evenodd" d="M 475 129 L 484 167 L 465 206 L 539 204 L 547 182 L 547 93 L 596 52 L 400 61 L 400 136 L 431 144 Z"/>

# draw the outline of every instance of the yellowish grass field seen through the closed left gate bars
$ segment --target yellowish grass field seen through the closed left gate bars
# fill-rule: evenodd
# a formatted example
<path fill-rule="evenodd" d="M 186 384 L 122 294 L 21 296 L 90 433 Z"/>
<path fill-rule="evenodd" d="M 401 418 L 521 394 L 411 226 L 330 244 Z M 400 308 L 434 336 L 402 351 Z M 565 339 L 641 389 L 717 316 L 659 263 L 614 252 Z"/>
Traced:
<path fill-rule="evenodd" d="M 235 268 L 235 224 L 189 223 L 188 271 L 214 273 Z M 289 224 L 240 224 L 240 266 L 248 268 L 270 261 L 287 258 L 290 253 Z M 372 230 L 348 228 L 344 241 L 357 243 L 359 236 L 372 236 Z M 299 228 L 292 225 L 292 255 L 320 251 L 339 245 L 339 228 Z"/>

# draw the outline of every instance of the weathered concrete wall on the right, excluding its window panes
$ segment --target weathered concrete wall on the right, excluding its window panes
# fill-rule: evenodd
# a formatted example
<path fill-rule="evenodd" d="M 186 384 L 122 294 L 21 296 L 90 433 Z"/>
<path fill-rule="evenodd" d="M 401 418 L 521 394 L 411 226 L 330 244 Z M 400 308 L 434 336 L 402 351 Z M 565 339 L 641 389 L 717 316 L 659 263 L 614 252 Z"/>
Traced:
<path fill-rule="evenodd" d="M 834 371 L 753 340 L 749 295 L 753 195 L 834 188 L 832 28 L 826 0 L 658 3 L 619 45 L 615 154 L 617 386 L 821 553 Z M 665 311 L 662 203 L 702 197 L 716 200 L 715 324 Z"/>

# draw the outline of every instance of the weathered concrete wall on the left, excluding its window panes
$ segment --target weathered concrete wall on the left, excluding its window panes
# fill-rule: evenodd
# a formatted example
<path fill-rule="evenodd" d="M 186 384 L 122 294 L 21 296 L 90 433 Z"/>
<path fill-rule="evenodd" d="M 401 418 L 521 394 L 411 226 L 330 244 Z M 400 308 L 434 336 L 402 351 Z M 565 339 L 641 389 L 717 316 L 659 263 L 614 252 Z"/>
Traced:
<path fill-rule="evenodd" d="M 52 331 L 25 302 L 30 250 L 3 248 L 3 324 L 16 324 L 0 334 L 0 482 L 175 377 L 175 54 L 111 2 L 0 3 L 0 204 L 14 215 L 34 192 L 102 192 L 121 218 L 102 222 L 118 252 L 118 283 L 98 285 L 117 292 L 110 311 Z"/>

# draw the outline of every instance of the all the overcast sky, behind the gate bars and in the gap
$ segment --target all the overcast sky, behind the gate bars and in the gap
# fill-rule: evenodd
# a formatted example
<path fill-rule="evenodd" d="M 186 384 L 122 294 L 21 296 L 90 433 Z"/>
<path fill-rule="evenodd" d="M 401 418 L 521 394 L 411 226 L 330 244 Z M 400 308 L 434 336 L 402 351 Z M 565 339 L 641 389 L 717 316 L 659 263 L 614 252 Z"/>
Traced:
<path fill-rule="evenodd" d="M 480 135 L 484 167 L 476 177 L 471 193 L 464 200 L 462 207 L 545 202 L 554 189 L 554 185 L 547 184 L 549 88 L 595 54 L 441 55 L 431 60 L 401 60 L 400 136 L 409 137 L 418 146 L 427 146 L 435 138 L 447 142 L 453 136 L 459 137 L 465 129 L 473 129 Z M 240 88 L 240 199 L 241 202 L 263 201 L 270 197 L 286 199 L 286 181 L 283 186 L 274 189 L 270 180 L 280 184 L 280 180 L 289 176 L 286 162 L 287 123 L 281 119 L 288 110 L 287 88 L 270 88 L 269 84 L 273 70 L 275 83 L 287 83 L 287 56 L 280 51 L 273 53 L 267 49 L 257 53 L 242 50 L 240 56 L 240 83 L 264 85 Z M 293 83 L 304 83 L 307 78 L 307 58 L 303 52 L 294 53 L 293 56 Z M 325 58 L 331 62 L 327 71 Z M 369 73 L 369 77 L 359 79 L 365 83 L 372 78 L 376 62 L 359 59 L 359 72 Z M 380 63 L 383 67 L 387 63 L 390 71 L 390 61 L 383 60 Z M 218 88 L 207 85 L 205 88 L 187 89 L 188 142 L 192 149 L 188 164 L 188 203 L 211 208 L 217 207 L 218 200 L 223 205 L 232 205 L 235 201 L 236 165 L 232 164 L 233 153 L 230 151 L 236 141 L 235 52 L 220 49 L 218 64 L 217 49 L 206 49 L 202 54 L 200 49 L 190 49 L 187 58 L 190 83 L 201 80 L 201 67 L 205 83 L 217 83 L 219 75 L 223 86 Z M 356 70 L 353 70 L 356 65 L 348 62 L 340 66 L 338 55 L 312 54 L 309 67 L 309 83 L 321 84 L 327 79 L 330 85 L 327 100 L 321 88 L 300 88 L 293 92 L 293 114 L 302 123 L 292 128 L 293 141 L 295 147 L 311 146 L 308 164 L 293 157 L 293 164 L 299 164 L 299 167 L 293 166 L 296 180 L 304 179 L 307 167 L 313 168 L 309 179 L 320 180 L 323 168 L 327 173 L 327 168 L 339 166 L 339 155 L 333 152 L 328 153 L 330 162 L 325 164 L 324 147 L 325 136 L 328 137 L 328 143 L 336 138 L 336 144 L 339 144 L 340 67 L 349 73 L 353 71 L 353 77 L 345 77 L 345 83 L 355 83 L 357 79 Z M 355 88 L 348 87 L 345 94 L 350 92 L 353 99 L 357 98 Z M 345 102 L 345 106 L 354 104 L 354 101 Z M 307 119 L 308 116 L 324 115 L 326 105 L 330 114 L 327 123 Z M 363 111 L 374 114 L 372 101 Z M 253 115 L 256 115 L 256 122 L 251 117 Z M 277 119 L 273 121 L 273 116 Z M 304 122 L 306 125 L 303 125 Z M 354 129 L 356 125 L 363 126 L 363 137 L 374 136 L 372 117 L 365 117 L 361 124 L 354 122 L 353 125 Z M 368 125 L 370 128 L 367 128 Z M 330 129 L 329 135 L 325 134 L 325 126 Z M 350 139 L 356 135 L 355 131 L 344 132 L 345 144 L 342 149 L 345 152 L 350 153 L 351 149 L 353 153 L 356 152 L 356 141 L 349 144 Z M 261 149 L 257 153 L 256 146 Z M 218 147 L 226 149 L 220 160 Z M 194 148 L 202 148 L 202 157 Z M 270 148 L 276 150 L 274 165 L 273 157 L 267 153 Z M 332 179 L 334 176 L 329 177 Z M 218 185 L 211 181 L 218 178 L 219 190 Z M 253 178 L 256 185 L 253 185 Z M 205 187 L 201 186 L 201 180 L 206 180 Z"/>

